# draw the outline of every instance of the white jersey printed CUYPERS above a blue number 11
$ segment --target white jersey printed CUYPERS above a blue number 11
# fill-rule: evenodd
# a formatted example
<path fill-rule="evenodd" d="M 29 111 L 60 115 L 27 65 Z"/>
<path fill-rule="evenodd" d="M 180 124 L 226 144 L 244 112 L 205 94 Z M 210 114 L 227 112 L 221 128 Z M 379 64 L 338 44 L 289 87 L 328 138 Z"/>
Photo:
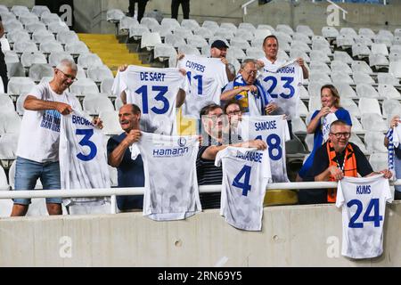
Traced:
<path fill-rule="evenodd" d="M 228 83 L 225 64 L 220 59 L 185 55 L 177 67 L 187 71 L 190 82 L 190 92 L 183 106 L 184 116 L 199 118 L 207 103 L 220 103 L 221 90 Z"/>

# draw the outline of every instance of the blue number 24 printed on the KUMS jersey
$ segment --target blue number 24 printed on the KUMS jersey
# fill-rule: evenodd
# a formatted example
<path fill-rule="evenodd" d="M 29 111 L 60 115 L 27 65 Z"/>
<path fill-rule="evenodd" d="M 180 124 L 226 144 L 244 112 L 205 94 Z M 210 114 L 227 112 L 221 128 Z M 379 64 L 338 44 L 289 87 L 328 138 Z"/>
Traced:
<path fill-rule="evenodd" d="M 362 204 L 362 202 L 359 199 L 351 199 L 347 203 L 348 208 L 351 208 L 354 205 L 356 205 L 356 213 L 349 220 L 348 227 L 354 228 L 354 229 L 362 229 L 364 227 L 364 223 L 356 223 L 356 220 L 361 215 L 361 213 L 364 209 L 364 205 Z M 372 210 L 373 210 L 373 216 L 370 216 Z M 383 220 L 383 216 L 380 216 L 380 211 L 379 211 L 379 199 L 371 199 L 368 207 L 366 208 L 366 211 L 364 212 L 364 217 L 362 218 L 362 221 L 363 222 L 374 222 L 374 227 L 377 228 L 377 227 L 381 226 L 382 220 Z"/>

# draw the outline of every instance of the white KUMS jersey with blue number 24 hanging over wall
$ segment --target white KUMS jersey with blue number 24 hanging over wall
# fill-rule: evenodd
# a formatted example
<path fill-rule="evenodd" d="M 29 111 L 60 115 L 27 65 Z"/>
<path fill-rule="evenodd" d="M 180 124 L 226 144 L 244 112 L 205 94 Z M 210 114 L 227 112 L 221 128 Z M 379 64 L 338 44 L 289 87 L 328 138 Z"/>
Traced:
<path fill-rule="evenodd" d="M 391 202 L 389 180 L 382 175 L 344 177 L 337 189 L 342 207 L 342 251 L 351 258 L 373 258 L 383 253 L 386 201 Z"/>

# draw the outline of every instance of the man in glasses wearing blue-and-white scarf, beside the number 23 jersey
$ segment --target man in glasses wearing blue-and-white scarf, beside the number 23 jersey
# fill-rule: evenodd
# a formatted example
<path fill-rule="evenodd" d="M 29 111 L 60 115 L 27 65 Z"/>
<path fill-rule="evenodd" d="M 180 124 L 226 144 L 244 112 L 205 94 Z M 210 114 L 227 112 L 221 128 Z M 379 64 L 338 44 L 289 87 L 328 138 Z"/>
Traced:
<path fill-rule="evenodd" d="M 225 86 L 220 96 L 222 102 L 237 100 L 245 115 L 273 115 L 277 105 L 271 102 L 266 89 L 257 79 L 257 61 L 247 59 L 242 61 L 241 69 L 235 79 Z"/>

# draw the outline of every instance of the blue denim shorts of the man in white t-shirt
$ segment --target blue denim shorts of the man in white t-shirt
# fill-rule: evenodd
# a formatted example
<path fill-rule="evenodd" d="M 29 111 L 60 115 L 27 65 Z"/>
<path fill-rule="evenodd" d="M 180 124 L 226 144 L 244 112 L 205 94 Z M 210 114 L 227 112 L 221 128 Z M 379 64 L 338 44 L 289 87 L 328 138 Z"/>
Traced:
<path fill-rule="evenodd" d="M 34 190 L 40 178 L 44 190 L 61 189 L 59 162 L 39 163 L 17 158 L 15 165 L 15 190 Z M 30 199 L 13 199 L 14 204 L 29 205 Z M 46 198 L 47 204 L 61 204 L 61 198 Z"/>

